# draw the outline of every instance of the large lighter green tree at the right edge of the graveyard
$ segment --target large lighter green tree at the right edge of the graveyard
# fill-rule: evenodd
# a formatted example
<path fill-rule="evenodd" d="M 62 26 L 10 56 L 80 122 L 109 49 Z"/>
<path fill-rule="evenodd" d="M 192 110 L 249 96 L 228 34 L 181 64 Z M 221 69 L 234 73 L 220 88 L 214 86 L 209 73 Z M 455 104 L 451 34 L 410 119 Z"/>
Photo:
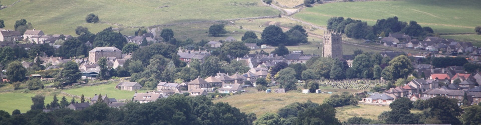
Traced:
<path fill-rule="evenodd" d="M 411 60 L 405 55 L 399 55 L 389 61 L 389 66 L 386 66 L 381 73 L 381 76 L 387 80 L 395 80 L 398 78 L 407 78 L 412 73 L 414 67 Z"/>

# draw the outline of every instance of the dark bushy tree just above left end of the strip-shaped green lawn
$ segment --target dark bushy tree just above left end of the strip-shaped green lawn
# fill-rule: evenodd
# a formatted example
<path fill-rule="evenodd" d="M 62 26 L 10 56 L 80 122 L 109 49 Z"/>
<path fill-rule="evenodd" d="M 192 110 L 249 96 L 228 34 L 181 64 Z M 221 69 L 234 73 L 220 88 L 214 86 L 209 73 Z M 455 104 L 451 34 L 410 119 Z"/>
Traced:
<path fill-rule="evenodd" d="M 77 82 L 81 76 L 82 73 L 80 73 L 77 63 L 69 61 L 64 64 L 64 68 L 60 70 L 60 75 L 57 79 L 62 85 L 68 85 Z"/>

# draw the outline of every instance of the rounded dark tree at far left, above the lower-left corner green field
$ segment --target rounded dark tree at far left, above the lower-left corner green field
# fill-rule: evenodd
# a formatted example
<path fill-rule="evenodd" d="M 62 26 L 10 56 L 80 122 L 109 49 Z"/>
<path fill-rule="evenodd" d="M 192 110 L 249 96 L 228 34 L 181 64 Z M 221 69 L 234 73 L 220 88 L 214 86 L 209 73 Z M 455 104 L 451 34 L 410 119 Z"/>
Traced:
<path fill-rule="evenodd" d="M 7 79 L 12 82 L 16 81 L 23 81 L 25 79 L 25 75 L 27 73 L 27 69 L 20 63 L 20 61 L 13 61 L 10 62 L 9 66 L 7 67 Z"/>

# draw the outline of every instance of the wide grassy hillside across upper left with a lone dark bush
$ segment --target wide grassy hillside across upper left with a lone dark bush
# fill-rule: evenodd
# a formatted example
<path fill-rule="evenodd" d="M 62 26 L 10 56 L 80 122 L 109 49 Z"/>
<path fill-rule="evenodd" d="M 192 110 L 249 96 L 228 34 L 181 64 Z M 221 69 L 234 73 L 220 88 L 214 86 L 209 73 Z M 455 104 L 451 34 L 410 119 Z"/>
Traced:
<path fill-rule="evenodd" d="M 22 0 L 0 10 L 0 19 L 5 20 L 9 29 L 14 28 L 16 20 L 25 18 L 46 34 L 74 34 L 75 27 L 80 25 L 98 32 L 108 26 L 138 28 L 136 26 L 279 13 L 262 5 L 259 0 Z M 85 16 L 89 13 L 99 15 L 100 22 L 86 23 Z"/>

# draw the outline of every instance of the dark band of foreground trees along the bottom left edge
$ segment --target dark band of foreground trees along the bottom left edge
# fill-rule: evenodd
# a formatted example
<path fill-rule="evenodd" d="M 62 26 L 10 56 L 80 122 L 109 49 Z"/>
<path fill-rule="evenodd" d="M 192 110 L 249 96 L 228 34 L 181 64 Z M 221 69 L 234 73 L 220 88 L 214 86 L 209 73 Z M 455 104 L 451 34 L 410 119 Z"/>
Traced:
<path fill-rule="evenodd" d="M 96 102 L 82 110 L 66 108 L 62 99 L 60 105 L 50 104 L 60 107 L 50 112 L 42 111 L 44 99 L 32 97 L 34 105 L 25 113 L 16 110 L 10 115 L 0 110 L 0 124 L 252 124 L 257 119 L 254 113 L 246 114 L 225 102 L 213 103 L 206 96 L 175 94 L 154 102 L 129 102 L 120 108 Z"/>

